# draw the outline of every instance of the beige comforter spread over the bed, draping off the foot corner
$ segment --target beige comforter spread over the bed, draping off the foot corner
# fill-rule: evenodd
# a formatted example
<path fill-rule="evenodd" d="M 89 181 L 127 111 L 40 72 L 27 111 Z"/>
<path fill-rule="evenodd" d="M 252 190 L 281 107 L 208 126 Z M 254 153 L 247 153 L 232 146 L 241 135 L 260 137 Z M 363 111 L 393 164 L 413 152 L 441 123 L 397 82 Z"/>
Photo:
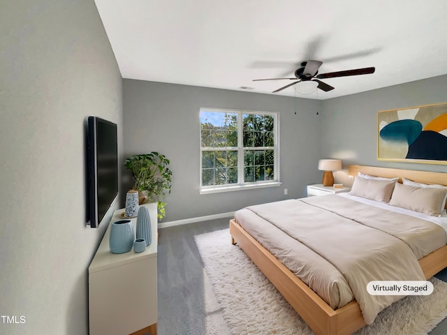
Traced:
<path fill-rule="evenodd" d="M 439 225 L 337 195 L 247 207 L 235 219 L 332 308 L 358 301 L 365 322 L 402 296 L 369 281 L 425 280 L 418 259 L 446 245 Z"/>

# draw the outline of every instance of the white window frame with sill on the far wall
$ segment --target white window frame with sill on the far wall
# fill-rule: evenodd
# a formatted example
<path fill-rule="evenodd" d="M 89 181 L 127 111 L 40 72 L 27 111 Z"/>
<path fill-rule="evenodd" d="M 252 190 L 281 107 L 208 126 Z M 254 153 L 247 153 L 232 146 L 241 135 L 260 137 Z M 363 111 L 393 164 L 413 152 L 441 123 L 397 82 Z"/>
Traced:
<path fill-rule="evenodd" d="M 226 184 L 226 185 L 214 185 L 214 186 L 203 186 L 202 185 L 202 157 L 203 151 L 228 151 L 234 150 L 235 147 L 213 147 L 213 148 L 203 148 L 202 147 L 202 131 L 199 122 L 199 143 L 200 143 L 200 181 L 199 190 L 200 194 L 210 194 L 210 193 L 220 193 L 229 191 L 240 191 L 253 188 L 265 188 L 280 186 L 281 181 L 279 181 L 279 113 L 278 112 L 261 112 L 257 110 L 227 110 L 221 108 L 207 108 L 200 107 L 200 112 L 221 112 L 221 113 L 233 113 L 237 114 L 237 184 Z M 200 120 L 199 112 L 199 120 Z M 274 116 L 274 147 L 244 147 L 243 145 L 243 114 L 257 114 L 257 115 L 272 115 Z M 253 181 L 244 182 L 244 150 L 256 150 L 256 149 L 266 149 L 274 151 L 274 172 L 273 180 L 271 181 Z"/>

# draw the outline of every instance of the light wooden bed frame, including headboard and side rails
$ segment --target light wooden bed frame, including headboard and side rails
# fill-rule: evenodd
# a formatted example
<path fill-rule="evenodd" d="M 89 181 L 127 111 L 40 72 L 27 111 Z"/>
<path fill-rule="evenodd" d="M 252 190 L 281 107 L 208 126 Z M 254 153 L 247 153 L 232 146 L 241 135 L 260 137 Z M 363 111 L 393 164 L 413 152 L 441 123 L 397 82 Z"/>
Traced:
<path fill-rule="evenodd" d="M 359 171 L 379 177 L 400 177 L 400 181 L 404 177 L 420 183 L 447 186 L 447 173 L 443 172 L 349 166 L 349 175 L 356 176 Z M 357 301 L 351 301 L 336 310 L 332 309 L 234 220 L 230 221 L 230 234 L 232 244 L 237 243 L 247 253 L 315 334 L 352 334 L 366 325 Z M 431 278 L 447 267 L 447 246 L 421 258 L 419 264 L 425 278 Z"/>

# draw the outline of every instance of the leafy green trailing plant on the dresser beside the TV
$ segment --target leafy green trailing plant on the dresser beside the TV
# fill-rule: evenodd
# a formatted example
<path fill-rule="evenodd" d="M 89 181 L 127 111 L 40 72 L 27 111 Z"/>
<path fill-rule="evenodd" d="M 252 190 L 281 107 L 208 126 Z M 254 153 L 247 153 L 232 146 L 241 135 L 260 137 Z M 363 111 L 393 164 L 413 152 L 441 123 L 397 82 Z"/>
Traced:
<path fill-rule="evenodd" d="M 170 161 L 156 151 L 134 155 L 126 159 L 124 166 L 131 170 L 135 184 L 133 189 L 146 192 L 147 200 L 158 203 L 158 217 L 166 216 L 167 193 L 170 193 L 173 172 L 168 168 Z"/>

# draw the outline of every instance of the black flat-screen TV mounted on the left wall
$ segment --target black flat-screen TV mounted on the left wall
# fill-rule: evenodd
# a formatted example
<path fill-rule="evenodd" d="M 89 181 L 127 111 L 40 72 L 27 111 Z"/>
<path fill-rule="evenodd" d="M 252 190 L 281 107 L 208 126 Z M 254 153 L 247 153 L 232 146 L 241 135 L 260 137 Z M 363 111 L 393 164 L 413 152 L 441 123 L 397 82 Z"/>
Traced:
<path fill-rule="evenodd" d="M 97 228 L 118 194 L 117 125 L 88 118 L 90 226 Z"/>

